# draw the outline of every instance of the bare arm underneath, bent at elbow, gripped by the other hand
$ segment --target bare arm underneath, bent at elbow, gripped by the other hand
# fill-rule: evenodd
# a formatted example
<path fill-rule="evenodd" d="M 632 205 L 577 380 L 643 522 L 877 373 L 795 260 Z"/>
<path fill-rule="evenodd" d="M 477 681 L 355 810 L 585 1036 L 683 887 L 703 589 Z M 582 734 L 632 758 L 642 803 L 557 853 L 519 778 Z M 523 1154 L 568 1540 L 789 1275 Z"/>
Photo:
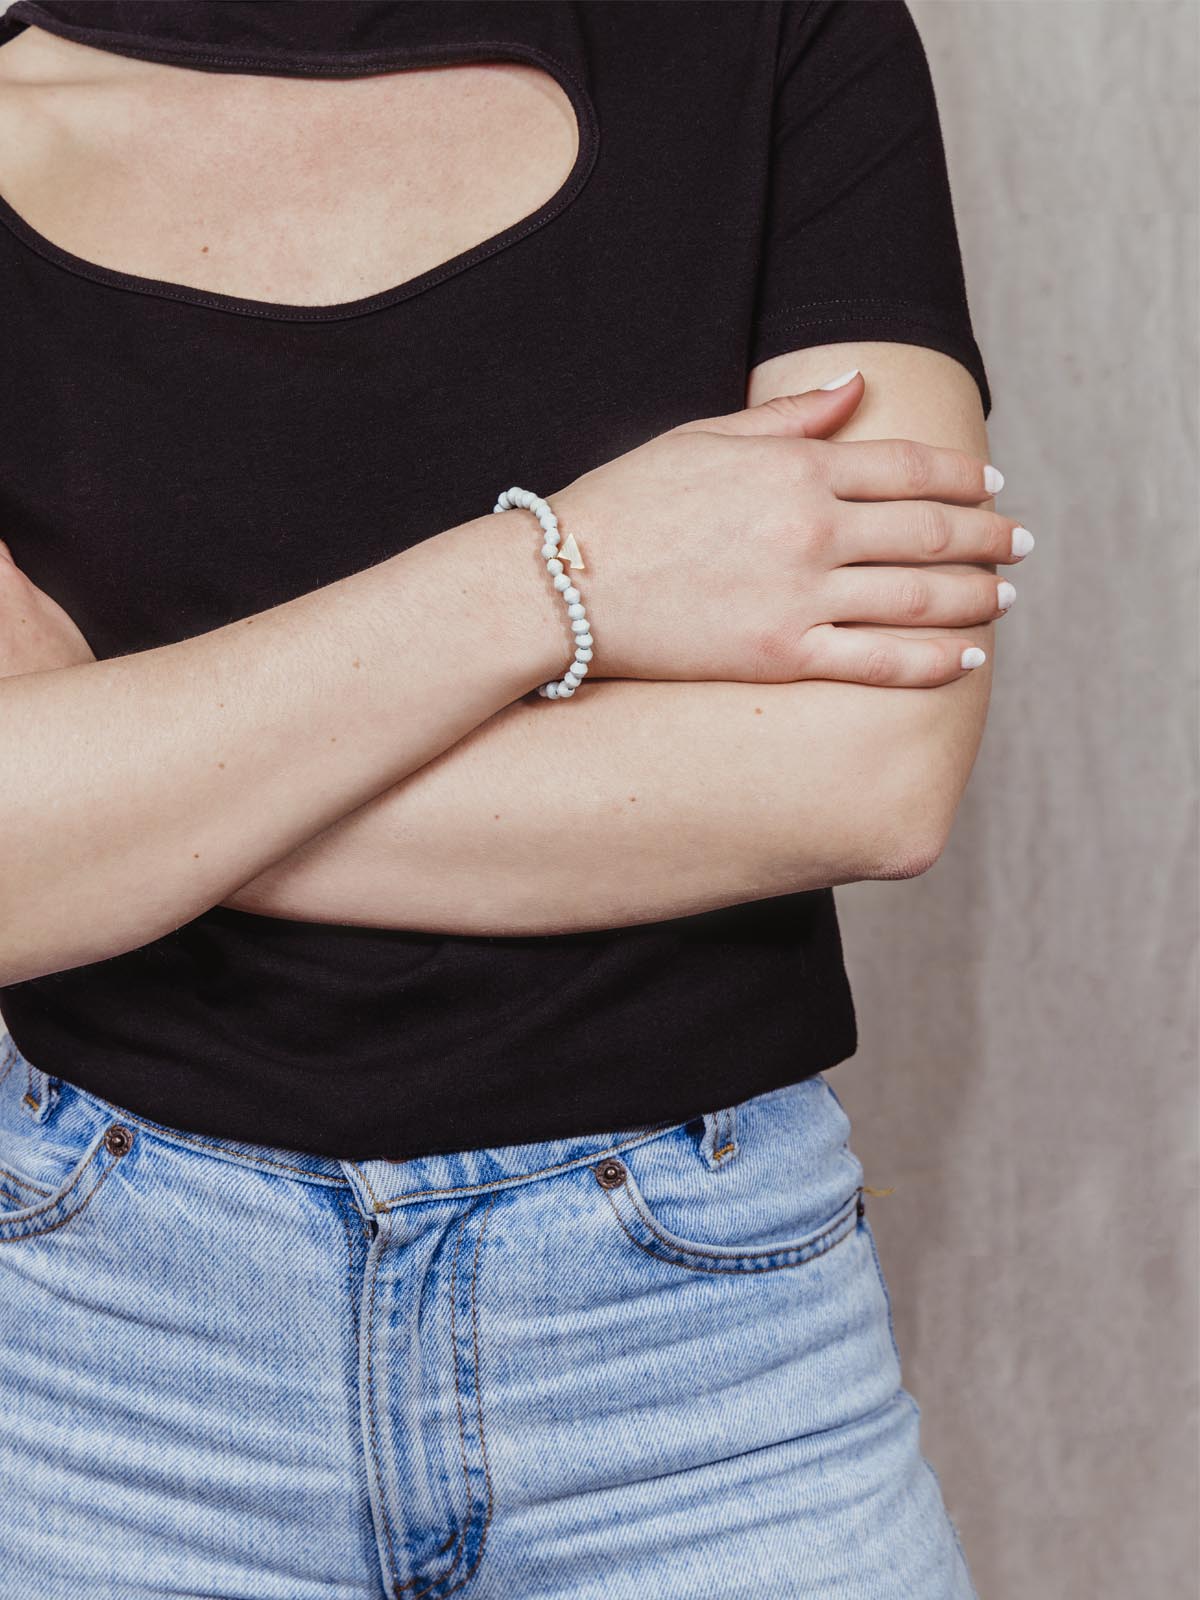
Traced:
<path fill-rule="evenodd" d="M 750 374 L 746 405 L 848 366 L 864 371 L 867 395 L 837 438 L 915 438 L 989 459 L 974 381 L 922 346 L 774 357 Z M 912 877 L 938 859 L 974 765 L 994 630 L 962 629 L 987 664 L 936 688 L 610 678 L 563 707 L 517 701 L 224 904 L 550 934 Z"/>

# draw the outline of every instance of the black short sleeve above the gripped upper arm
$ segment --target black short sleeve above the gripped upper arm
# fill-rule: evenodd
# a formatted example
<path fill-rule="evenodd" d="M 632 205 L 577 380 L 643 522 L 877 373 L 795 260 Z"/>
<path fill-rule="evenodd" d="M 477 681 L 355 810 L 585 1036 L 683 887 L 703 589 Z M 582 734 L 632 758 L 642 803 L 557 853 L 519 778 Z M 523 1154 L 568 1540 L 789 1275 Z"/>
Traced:
<path fill-rule="evenodd" d="M 784 0 L 749 365 L 850 339 L 952 355 L 989 414 L 917 24 L 904 0 Z"/>

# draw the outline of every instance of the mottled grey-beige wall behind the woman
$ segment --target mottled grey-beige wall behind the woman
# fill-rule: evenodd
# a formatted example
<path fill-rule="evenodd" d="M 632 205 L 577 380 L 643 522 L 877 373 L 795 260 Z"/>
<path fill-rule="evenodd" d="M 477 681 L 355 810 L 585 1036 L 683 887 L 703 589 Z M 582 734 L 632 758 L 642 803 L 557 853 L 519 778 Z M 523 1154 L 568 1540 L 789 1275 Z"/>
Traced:
<path fill-rule="evenodd" d="M 912 0 L 998 506 L 1037 536 L 922 878 L 838 890 L 830 1072 L 982 1600 L 1197 1576 L 1197 35 L 1157 0 Z M 914 1597 L 917 1600 L 917 1597 Z"/>

